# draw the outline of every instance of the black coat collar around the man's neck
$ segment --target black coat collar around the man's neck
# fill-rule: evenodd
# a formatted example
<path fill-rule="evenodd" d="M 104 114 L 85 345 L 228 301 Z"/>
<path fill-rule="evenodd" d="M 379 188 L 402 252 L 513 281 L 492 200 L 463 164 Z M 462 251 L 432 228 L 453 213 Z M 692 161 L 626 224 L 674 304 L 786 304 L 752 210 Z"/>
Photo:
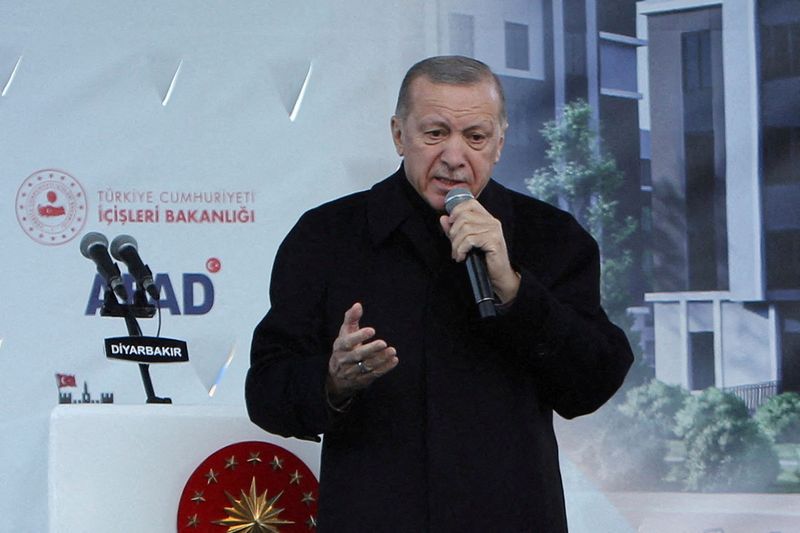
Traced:
<path fill-rule="evenodd" d="M 436 215 L 429 209 L 406 178 L 403 165 L 383 181 L 376 183 L 368 193 L 367 223 L 370 240 L 374 246 L 380 245 L 393 232 L 403 232 L 417 248 L 428 266 L 433 268 L 436 257 L 435 243 L 432 242 L 429 224 L 425 216 Z M 418 205 L 415 205 L 419 201 Z M 481 191 L 478 201 L 492 216 L 500 220 L 503 226 L 509 253 L 513 242 L 513 206 L 508 190 L 494 180 L 489 180 Z M 438 222 L 437 222 L 438 223 Z"/>

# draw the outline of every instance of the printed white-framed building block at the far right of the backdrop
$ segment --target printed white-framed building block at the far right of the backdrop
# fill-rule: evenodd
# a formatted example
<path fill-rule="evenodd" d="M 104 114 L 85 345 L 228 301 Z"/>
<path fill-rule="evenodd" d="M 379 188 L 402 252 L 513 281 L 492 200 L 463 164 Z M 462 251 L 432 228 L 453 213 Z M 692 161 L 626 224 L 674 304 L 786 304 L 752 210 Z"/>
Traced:
<path fill-rule="evenodd" d="M 800 2 L 637 4 L 656 377 L 800 391 Z"/>

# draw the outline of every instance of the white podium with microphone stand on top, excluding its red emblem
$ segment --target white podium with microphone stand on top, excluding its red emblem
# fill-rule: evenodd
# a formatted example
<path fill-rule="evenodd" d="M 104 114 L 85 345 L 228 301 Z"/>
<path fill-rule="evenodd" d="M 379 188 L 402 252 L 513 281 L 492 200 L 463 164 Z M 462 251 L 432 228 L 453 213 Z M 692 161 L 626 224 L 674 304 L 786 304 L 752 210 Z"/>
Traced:
<path fill-rule="evenodd" d="M 320 445 L 255 426 L 244 406 L 59 405 L 50 415 L 50 533 L 174 533 L 186 481 L 206 457 L 269 442 L 319 479 Z"/>

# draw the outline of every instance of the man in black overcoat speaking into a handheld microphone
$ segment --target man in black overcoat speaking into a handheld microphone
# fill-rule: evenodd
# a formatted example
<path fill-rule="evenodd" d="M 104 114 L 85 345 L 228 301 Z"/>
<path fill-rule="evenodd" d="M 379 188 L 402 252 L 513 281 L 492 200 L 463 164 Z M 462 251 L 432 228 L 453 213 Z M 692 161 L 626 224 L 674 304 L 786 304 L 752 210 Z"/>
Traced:
<path fill-rule="evenodd" d="M 552 412 L 595 410 L 632 355 L 600 308 L 596 243 L 490 179 L 506 126 L 486 65 L 421 61 L 391 120 L 400 169 L 278 251 L 247 406 L 267 431 L 324 433 L 320 531 L 566 531 Z M 453 188 L 477 199 L 447 215 Z M 497 317 L 472 300 L 472 248 Z"/>

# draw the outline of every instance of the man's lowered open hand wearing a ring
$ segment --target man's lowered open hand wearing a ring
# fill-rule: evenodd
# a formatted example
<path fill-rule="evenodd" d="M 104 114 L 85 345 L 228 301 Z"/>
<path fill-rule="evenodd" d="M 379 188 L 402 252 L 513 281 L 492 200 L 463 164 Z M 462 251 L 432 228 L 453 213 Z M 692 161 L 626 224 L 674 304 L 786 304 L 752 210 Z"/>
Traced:
<path fill-rule="evenodd" d="M 333 353 L 328 361 L 328 395 L 334 403 L 342 402 L 357 390 L 368 387 L 373 381 L 397 366 L 397 350 L 386 341 L 375 339 L 373 328 L 361 328 L 359 320 L 364 314 L 360 303 L 355 303 L 344 314 L 339 336 L 333 341 Z"/>

